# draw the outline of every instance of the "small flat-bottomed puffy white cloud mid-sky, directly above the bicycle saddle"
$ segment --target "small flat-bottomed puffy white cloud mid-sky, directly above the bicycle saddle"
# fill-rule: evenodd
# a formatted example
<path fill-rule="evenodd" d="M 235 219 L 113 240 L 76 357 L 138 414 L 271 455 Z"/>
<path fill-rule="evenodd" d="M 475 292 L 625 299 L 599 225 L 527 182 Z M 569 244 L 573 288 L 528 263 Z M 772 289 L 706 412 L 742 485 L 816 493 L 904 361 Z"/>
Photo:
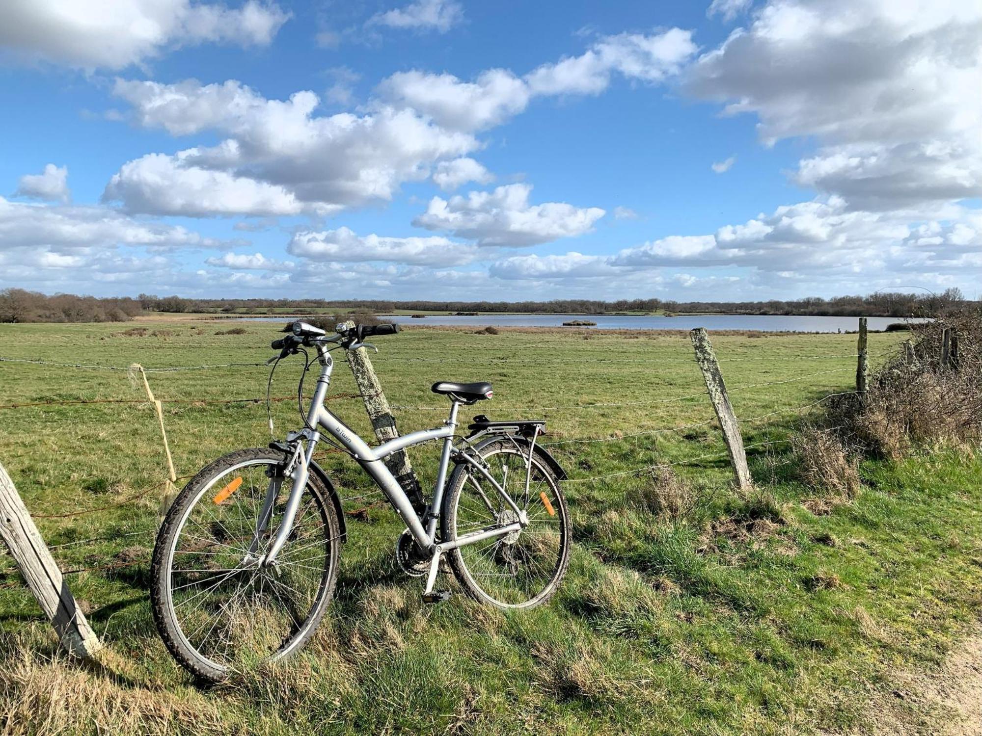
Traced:
<path fill-rule="evenodd" d="M 523 246 L 589 233 L 605 214 L 599 207 L 579 208 L 565 202 L 530 205 L 531 189 L 530 184 L 507 184 L 450 200 L 433 197 L 412 224 L 480 245 Z"/>

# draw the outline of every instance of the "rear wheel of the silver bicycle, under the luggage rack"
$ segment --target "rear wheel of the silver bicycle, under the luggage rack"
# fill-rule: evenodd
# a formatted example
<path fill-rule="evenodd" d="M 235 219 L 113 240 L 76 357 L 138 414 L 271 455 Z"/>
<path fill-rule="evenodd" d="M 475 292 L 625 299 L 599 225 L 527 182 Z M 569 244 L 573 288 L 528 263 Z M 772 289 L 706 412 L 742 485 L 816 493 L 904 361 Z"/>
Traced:
<path fill-rule="evenodd" d="M 570 514 L 559 481 L 533 455 L 526 494 L 526 456 L 521 449 L 505 441 L 483 447 L 480 453 L 492 477 L 527 513 L 529 523 L 518 532 L 452 550 L 451 567 L 464 590 L 482 603 L 501 608 L 543 604 L 556 592 L 570 562 Z M 459 466 L 444 502 L 445 541 L 515 521 L 515 511 L 484 476 Z"/>

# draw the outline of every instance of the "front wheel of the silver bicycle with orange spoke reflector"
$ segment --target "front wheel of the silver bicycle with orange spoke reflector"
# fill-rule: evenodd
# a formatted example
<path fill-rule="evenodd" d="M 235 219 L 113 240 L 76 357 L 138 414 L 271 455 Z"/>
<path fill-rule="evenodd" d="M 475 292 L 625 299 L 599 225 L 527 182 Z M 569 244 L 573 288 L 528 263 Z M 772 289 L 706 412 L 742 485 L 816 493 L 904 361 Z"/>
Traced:
<path fill-rule="evenodd" d="M 265 448 L 216 460 L 191 479 L 157 536 L 154 620 L 171 654 L 206 680 L 296 652 L 331 600 L 340 523 L 312 474 L 287 543 L 272 564 L 260 563 L 293 489 L 283 461 Z"/>

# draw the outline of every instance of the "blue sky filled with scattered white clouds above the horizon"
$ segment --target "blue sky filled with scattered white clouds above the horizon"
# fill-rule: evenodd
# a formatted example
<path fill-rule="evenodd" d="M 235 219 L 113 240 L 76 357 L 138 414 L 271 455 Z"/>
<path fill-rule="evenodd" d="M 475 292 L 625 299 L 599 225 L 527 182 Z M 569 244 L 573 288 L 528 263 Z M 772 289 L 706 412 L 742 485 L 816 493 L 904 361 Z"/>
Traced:
<path fill-rule="evenodd" d="M 106 4 L 0 8 L 0 288 L 978 290 L 972 0 Z"/>

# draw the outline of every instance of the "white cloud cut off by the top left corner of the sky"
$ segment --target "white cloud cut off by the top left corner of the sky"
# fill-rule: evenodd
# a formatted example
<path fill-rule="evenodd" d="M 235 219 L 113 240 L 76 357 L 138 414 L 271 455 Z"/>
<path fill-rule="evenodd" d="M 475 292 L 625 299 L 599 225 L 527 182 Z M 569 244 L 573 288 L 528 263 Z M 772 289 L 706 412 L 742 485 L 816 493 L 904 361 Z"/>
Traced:
<path fill-rule="evenodd" d="M 205 41 L 265 46 L 288 18 L 278 5 L 256 0 L 235 9 L 190 0 L 6 0 L 0 48 L 21 61 L 123 69 Z"/>

